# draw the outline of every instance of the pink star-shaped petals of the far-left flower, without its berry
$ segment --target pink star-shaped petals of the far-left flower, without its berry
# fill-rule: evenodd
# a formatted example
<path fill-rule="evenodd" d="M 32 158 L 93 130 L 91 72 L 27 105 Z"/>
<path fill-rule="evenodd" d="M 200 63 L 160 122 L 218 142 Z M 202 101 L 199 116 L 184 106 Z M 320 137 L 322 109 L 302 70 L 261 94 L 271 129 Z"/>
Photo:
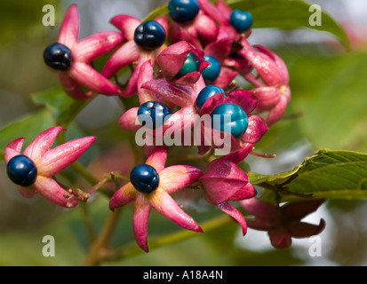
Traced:
<path fill-rule="evenodd" d="M 77 138 L 51 149 L 61 130 L 64 129 L 60 126 L 45 130 L 26 147 L 23 154 L 36 165 L 36 182 L 33 185 L 18 188 L 24 197 L 33 198 L 36 193 L 39 193 L 52 203 L 71 208 L 75 207 L 78 201 L 52 177 L 66 169 L 71 163 L 76 162 L 92 146 L 95 137 Z M 21 154 L 24 140 L 25 138 L 17 138 L 5 148 L 5 162 Z"/>

